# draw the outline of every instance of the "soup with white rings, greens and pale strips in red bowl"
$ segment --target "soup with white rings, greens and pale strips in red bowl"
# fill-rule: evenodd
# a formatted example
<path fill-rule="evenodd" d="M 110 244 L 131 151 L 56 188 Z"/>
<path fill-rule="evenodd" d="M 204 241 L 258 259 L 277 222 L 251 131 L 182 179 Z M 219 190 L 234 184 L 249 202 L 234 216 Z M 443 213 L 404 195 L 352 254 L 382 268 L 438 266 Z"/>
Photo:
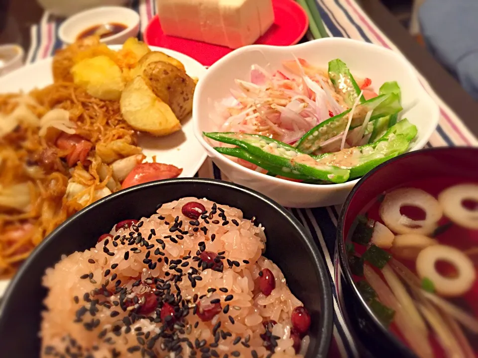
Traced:
<path fill-rule="evenodd" d="M 478 182 L 404 183 L 349 233 L 356 287 L 383 325 L 418 357 L 478 357 Z"/>

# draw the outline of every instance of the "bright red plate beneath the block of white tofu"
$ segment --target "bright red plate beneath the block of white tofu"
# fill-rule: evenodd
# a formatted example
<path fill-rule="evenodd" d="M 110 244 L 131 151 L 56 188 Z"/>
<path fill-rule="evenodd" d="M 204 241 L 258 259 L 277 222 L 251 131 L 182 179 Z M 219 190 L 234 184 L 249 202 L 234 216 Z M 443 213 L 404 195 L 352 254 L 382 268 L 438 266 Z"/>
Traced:
<path fill-rule="evenodd" d="M 304 9 L 293 0 L 272 0 L 275 21 L 267 32 L 259 37 L 255 44 L 289 46 L 298 43 L 309 27 L 309 18 Z M 147 25 L 144 42 L 150 46 L 159 46 L 188 55 L 204 66 L 211 66 L 231 51 L 229 47 L 206 42 L 189 40 L 165 35 L 158 16 L 154 16 Z"/>

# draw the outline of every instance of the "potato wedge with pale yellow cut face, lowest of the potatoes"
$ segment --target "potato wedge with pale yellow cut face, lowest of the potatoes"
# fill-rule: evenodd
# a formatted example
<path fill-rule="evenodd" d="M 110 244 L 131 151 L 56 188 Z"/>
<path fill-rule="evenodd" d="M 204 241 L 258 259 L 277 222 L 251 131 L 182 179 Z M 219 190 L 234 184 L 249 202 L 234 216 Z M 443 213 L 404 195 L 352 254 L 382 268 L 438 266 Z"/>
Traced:
<path fill-rule="evenodd" d="M 181 129 L 171 108 L 156 97 L 141 76 L 128 82 L 119 105 L 124 120 L 138 131 L 163 136 Z"/>

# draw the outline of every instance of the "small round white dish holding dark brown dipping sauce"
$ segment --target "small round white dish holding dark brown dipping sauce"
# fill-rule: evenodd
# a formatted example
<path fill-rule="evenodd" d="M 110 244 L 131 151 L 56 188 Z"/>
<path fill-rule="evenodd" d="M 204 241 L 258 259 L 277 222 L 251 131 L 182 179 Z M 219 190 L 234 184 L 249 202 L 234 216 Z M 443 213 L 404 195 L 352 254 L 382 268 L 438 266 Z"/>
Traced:
<path fill-rule="evenodd" d="M 83 31 L 107 23 L 120 23 L 127 27 L 121 32 L 101 39 L 108 45 L 120 45 L 139 32 L 139 15 L 121 6 L 102 6 L 79 12 L 65 20 L 58 29 L 58 36 L 65 44 L 74 43 Z"/>

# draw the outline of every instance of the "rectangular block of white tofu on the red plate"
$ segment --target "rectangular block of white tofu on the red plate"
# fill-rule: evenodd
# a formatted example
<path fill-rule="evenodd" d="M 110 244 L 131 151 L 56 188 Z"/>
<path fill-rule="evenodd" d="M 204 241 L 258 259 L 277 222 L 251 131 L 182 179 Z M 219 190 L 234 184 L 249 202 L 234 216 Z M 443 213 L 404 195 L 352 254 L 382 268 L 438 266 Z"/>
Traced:
<path fill-rule="evenodd" d="M 253 44 L 274 23 L 272 0 L 157 0 L 166 35 L 233 49 Z"/>

